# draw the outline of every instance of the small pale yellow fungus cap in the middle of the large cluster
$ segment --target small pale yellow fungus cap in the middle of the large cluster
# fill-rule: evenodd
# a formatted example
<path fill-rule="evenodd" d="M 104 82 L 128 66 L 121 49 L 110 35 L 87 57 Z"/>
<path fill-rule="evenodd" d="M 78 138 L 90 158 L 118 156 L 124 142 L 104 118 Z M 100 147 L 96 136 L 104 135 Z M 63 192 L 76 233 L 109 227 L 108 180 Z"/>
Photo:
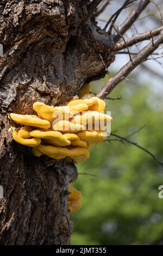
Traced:
<path fill-rule="evenodd" d="M 72 132 L 78 132 L 85 130 L 85 127 L 80 124 L 73 124 L 70 121 L 67 120 L 60 120 L 58 123 L 53 125 L 53 130 L 55 131 L 61 131 L 64 133 L 72 133 Z"/>

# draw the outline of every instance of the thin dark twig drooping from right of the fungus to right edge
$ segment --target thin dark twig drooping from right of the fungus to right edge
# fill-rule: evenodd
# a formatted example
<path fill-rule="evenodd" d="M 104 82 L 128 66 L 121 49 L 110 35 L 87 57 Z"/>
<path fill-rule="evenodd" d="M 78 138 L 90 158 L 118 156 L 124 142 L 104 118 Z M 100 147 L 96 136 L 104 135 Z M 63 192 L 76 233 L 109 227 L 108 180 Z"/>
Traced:
<path fill-rule="evenodd" d="M 116 133 L 114 132 L 111 132 L 110 133 L 111 136 L 114 136 L 116 137 L 115 139 L 106 139 L 105 141 L 108 141 L 108 142 L 112 142 L 112 141 L 119 141 L 119 142 L 127 142 L 129 144 L 132 144 L 134 146 L 136 146 L 137 148 L 139 149 L 142 149 L 143 151 L 145 151 L 148 155 L 152 156 L 153 159 L 158 162 L 161 166 L 163 166 L 163 162 L 161 162 L 153 153 L 151 153 L 149 150 L 147 150 L 146 148 L 143 148 L 141 147 L 139 144 L 137 144 L 136 142 L 133 142 L 133 141 L 130 141 L 129 139 L 127 139 L 127 137 L 122 137 L 120 135 L 117 135 Z"/>

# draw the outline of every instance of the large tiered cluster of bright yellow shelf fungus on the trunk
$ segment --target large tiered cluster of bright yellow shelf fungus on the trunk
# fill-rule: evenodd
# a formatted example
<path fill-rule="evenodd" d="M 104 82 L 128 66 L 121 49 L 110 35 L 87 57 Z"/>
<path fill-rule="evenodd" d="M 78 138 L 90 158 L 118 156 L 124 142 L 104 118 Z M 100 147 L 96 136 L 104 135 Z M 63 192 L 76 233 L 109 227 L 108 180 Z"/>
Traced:
<path fill-rule="evenodd" d="M 12 127 L 12 137 L 38 157 L 43 154 L 57 160 L 69 157 L 74 162 L 85 161 L 91 146 L 106 139 L 105 126 L 112 118 L 102 113 L 105 107 L 102 99 L 83 92 L 64 106 L 35 102 L 37 115 L 9 115 L 21 125 Z"/>

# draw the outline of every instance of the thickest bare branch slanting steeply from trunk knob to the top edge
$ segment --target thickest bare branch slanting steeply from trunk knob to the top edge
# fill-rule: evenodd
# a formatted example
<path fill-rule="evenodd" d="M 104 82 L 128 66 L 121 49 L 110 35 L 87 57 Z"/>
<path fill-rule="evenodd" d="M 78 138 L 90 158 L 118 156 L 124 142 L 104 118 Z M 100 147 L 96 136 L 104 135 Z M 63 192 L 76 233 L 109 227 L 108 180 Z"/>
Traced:
<path fill-rule="evenodd" d="M 150 0 L 141 0 L 141 2 L 133 10 L 133 12 L 130 14 L 130 16 L 122 23 L 122 25 L 120 27 L 117 28 L 117 31 L 121 35 L 123 35 L 131 27 L 131 25 L 133 25 L 133 23 L 137 20 L 139 15 L 147 7 L 147 5 L 149 3 L 150 3 Z M 117 42 L 118 40 L 120 40 L 120 38 L 121 38 L 121 36 L 119 34 L 116 34 L 114 36 L 114 41 Z"/>

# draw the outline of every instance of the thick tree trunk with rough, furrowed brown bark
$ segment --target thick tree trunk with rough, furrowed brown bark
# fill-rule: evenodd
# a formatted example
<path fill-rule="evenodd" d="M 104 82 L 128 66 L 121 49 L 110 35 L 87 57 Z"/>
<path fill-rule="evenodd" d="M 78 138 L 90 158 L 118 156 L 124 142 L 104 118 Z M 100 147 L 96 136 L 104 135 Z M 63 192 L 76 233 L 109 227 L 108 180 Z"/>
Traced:
<path fill-rule="evenodd" d="M 88 4 L 87 0 L 0 3 L 1 245 L 70 243 L 67 188 L 77 178 L 76 166 L 34 157 L 27 147 L 13 142 L 8 114 L 32 114 L 35 101 L 60 105 L 77 95 L 85 82 L 105 74 L 103 62 L 108 66 L 115 53 L 104 53 L 110 39 L 90 19 Z"/>

